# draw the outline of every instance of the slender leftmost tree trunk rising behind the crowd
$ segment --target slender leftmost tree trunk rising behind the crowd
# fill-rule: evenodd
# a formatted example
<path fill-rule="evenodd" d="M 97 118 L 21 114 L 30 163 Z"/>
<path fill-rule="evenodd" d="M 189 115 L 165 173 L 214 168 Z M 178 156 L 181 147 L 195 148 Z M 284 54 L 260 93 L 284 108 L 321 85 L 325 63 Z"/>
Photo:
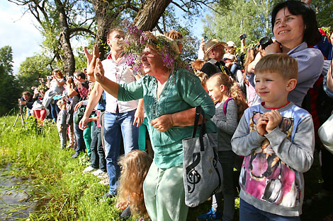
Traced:
<path fill-rule="evenodd" d="M 64 10 L 64 4 L 61 0 L 55 0 L 57 11 L 59 11 L 59 22 L 60 22 L 60 44 L 64 52 L 64 75 L 72 75 L 75 71 L 75 59 L 72 51 L 71 42 L 69 41 L 69 28 L 67 23 L 67 16 Z"/>

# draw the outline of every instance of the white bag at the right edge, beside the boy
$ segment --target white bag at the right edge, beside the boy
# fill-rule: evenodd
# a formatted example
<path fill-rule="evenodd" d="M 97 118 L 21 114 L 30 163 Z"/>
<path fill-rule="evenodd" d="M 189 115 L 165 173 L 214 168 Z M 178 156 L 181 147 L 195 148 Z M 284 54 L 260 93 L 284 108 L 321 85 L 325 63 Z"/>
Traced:
<path fill-rule="evenodd" d="M 324 148 L 333 154 L 333 114 L 320 126 L 318 136 Z"/>

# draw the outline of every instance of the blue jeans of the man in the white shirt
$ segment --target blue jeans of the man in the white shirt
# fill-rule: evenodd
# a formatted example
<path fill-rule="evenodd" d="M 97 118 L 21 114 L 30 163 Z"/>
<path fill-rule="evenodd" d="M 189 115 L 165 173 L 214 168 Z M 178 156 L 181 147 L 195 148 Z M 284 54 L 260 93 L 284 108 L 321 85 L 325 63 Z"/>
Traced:
<path fill-rule="evenodd" d="M 104 141 L 106 150 L 106 169 L 110 181 L 110 193 L 114 194 L 118 186 L 120 167 L 118 165 L 120 136 L 123 136 L 125 155 L 137 150 L 139 130 L 133 126 L 135 110 L 115 114 L 104 114 Z"/>

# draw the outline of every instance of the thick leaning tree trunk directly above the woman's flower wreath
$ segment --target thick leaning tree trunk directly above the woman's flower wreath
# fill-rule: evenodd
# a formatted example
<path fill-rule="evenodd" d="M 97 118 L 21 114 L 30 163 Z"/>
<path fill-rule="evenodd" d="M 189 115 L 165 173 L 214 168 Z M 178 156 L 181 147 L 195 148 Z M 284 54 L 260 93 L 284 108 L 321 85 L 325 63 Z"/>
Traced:
<path fill-rule="evenodd" d="M 140 8 L 133 24 L 143 31 L 152 30 L 157 25 L 159 18 L 171 1 L 172 0 L 148 0 L 145 6 Z"/>

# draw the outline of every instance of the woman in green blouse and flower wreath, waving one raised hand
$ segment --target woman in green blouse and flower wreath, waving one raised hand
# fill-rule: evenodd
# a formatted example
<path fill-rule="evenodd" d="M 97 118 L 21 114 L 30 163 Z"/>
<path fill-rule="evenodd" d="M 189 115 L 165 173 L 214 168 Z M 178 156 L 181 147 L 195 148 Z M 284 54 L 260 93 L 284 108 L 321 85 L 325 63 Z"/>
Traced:
<path fill-rule="evenodd" d="M 169 37 L 144 32 L 132 44 L 128 43 L 133 57 L 140 54 L 140 60 L 132 61 L 147 74 L 135 82 L 119 85 L 104 77 L 103 65 L 98 60 L 95 78 L 118 100 L 143 98 L 154 146 L 154 162 L 143 186 L 147 212 L 153 221 L 186 220 L 181 141 L 191 137 L 193 107 L 203 107 L 208 118 L 213 117 L 215 107 L 199 78 L 182 68 L 179 49 Z M 208 131 L 216 131 L 212 121 L 206 126 Z"/>

